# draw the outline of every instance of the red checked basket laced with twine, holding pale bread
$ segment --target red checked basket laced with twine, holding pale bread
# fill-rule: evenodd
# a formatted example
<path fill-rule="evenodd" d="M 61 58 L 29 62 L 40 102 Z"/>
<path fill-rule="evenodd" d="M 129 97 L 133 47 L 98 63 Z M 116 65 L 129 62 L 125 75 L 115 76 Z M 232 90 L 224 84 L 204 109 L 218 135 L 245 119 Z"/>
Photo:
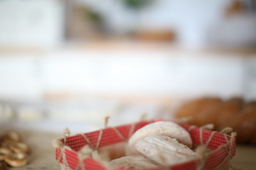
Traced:
<path fill-rule="evenodd" d="M 128 140 L 133 132 L 142 128 L 144 125 L 156 122 L 157 120 L 141 121 L 129 125 L 120 125 L 115 128 L 105 128 L 95 132 L 87 132 L 60 139 L 63 142 L 61 148 L 55 149 L 55 159 L 60 162 L 63 169 L 86 169 L 86 170 L 104 170 L 107 169 L 104 164 L 97 162 L 92 158 L 80 159 L 78 151 L 85 145 L 94 148 L 101 148 L 124 142 Z M 219 132 L 213 132 L 202 128 L 191 127 L 190 125 L 181 125 L 191 134 L 193 145 L 207 145 L 211 150 L 206 154 L 202 161 L 191 161 L 183 164 L 171 166 L 171 170 L 196 170 L 201 169 L 228 169 L 228 160 L 235 156 L 235 139 L 230 135 Z M 99 140 L 100 139 L 100 140 Z M 117 168 L 117 170 L 128 170 Z M 156 169 L 155 169 L 156 170 Z"/>

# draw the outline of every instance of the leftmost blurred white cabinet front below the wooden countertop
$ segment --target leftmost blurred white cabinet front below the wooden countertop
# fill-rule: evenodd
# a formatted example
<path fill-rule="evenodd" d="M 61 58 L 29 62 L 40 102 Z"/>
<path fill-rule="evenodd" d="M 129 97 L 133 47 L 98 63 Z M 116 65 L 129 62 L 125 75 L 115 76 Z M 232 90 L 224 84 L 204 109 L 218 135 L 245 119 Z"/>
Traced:
<path fill-rule="evenodd" d="M 1 99 L 41 97 L 41 78 L 34 55 L 0 55 L 0 80 Z"/>

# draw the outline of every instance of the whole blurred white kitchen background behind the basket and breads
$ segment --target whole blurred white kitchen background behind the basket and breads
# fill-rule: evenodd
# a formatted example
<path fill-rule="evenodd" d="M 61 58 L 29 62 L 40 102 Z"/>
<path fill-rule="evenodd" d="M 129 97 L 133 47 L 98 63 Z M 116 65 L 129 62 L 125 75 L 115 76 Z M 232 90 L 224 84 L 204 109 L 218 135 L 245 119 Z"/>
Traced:
<path fill-rule="evenodd" d="M 255 0 L 0 1 L 2 127 L 83 132 L 198 96 L 256 98 Z"/>

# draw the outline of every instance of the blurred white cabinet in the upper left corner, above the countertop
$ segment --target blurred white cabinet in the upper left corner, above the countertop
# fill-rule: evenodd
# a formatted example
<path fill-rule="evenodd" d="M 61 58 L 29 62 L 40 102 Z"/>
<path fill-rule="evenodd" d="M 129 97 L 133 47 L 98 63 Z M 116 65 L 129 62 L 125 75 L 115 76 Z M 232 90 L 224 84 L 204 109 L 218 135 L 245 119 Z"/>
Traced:
<path fill-rule="evenodd" d="M 45 47 L 64 38 L 64 1 L 0 1 L 0 46 Z"/>

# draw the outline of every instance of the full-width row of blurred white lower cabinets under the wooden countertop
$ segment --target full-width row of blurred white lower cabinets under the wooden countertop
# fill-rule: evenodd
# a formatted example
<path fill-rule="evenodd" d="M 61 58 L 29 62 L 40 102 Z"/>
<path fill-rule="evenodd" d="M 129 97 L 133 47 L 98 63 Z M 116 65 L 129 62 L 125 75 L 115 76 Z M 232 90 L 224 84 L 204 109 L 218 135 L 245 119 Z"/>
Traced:
<path fill-rule="evenodd" d="M 148 50 L 0 55 L 0 95 L 110 94 L 255 98 L 255 57 Z"/>

